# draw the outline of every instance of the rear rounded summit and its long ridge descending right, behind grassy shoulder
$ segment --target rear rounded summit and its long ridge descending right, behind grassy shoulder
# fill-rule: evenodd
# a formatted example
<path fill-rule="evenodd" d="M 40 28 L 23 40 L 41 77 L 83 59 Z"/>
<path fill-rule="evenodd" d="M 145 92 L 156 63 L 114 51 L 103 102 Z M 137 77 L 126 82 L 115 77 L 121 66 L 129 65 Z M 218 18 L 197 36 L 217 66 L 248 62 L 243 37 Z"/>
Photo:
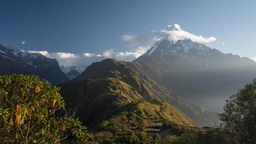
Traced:
<path fill-rule="evenodd" d="M 215 115 L 214 117 L 216 117 L 217 112 L 208 111 L 207 109 L 203 109 L 195 104 L 185 101 L 172 91 L 158 85 L 146 75 L 136 72 L 115 59 L 105 59 L 100 62 L 95 62 L 91 66 L 87 67 L 80 76 L 74 78 L 69 83 L 62 84 L 60 86 L 67 89 L 67 86 L 64 85 L 78 85 L 77 83 L 86 83 L 88 79 L 101 80 L 105 78 L 114 78 L 131 86 L 131 88 L 133 88 L 134 91 L 136 91 L 136 93 L 142 96 L 146 101 L 167 101 L 201 126 L 214 125 L 215 123 L 218 123 L 218 120 L 213 119 L 213 116 L 211 116 Z M 119 86 L 117 85 L 117 87 Z M 71 93 L 70 91 L 67 93 Z M 65 92 L 63 92 L 63 95 L 66 95 Z M 67 101 L 70 100 L 67 99 Z M 209 114 L 208 117 L 205 117 L 207 113 L 211 114 Z"/>

